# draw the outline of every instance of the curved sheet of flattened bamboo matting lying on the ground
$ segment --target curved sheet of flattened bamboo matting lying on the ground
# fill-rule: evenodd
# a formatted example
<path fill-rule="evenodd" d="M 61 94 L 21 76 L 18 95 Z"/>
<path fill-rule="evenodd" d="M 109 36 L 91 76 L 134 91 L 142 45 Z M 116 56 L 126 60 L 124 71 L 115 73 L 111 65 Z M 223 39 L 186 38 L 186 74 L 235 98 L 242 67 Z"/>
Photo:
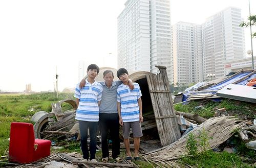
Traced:
<path fill-rule="evenodd" d="M 199 125 L 199 127 L 192 130 L 191 133 L 198 137 L 200 132 L 204 129 L 208 133 L 208 136 L 212 137 L 212 139 L 209 140 L 210 149 L 215 149 L 231 137 L 234 130 L 243 127 L 245 122 L 246 121 L 238 121 L 238 119 L 231 117 L 214 117 Z M 146 158 L 152 162 L 164 163 L 168 166 L 168 161 L 178 159 L 187 153 L 187 135 L 188 134 L 166 147 L 147 153 Z M 202 149 L 198 150 L 199 152 L 202 151 Z"/>

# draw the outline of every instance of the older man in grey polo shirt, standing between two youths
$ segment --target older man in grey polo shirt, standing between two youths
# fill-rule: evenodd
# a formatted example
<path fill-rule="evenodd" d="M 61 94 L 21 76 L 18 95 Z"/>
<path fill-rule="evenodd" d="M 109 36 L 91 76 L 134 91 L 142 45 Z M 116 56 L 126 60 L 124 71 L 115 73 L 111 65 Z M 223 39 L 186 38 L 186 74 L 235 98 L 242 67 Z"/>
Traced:
<path fill-rule="evenodd" d="M 113 81 L 114 74 L 111 70 L 103 72 L 104 82 L 99 82 L 103 86 L 101 104 L 99 106 L 99 129 L 101 135 L 102 162 L 109 160 L 108 133 L 112 140 L 112 158 L 117 162 L 122 161 L 120 155 L 119 141 L 119 117 L 117 113 L 117 87 L 122 84 L 121 81 Z M 85 80 L 80 82 L 80 87 L 83 87 Z M 129 87 L 134 88 L 130 80 Z"/>

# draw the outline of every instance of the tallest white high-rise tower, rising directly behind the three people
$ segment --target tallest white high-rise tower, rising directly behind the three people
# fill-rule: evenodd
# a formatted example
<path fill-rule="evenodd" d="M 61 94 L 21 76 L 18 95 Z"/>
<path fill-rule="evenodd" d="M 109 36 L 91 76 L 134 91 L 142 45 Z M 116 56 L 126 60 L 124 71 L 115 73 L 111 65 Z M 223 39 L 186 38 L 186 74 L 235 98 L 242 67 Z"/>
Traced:
<path fill-rule="evenodd" d="M 166 66 L 173 83 L 169 0 L 127 0 L 118 16 L 118 68 L 157 73 Z"/>

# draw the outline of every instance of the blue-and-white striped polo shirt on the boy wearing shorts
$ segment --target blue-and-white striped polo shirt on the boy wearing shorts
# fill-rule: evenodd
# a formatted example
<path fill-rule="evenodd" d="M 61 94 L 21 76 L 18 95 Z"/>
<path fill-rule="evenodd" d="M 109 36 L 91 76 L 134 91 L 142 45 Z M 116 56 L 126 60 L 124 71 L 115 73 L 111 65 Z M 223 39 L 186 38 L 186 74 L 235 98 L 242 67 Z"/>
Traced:
<path fill-rule="evenodd" d="M 140 109 L 138 99 L 140 99 L 142 94 L 139 84 L 133 84 L 133 90 L 124 84 L 119 85 L 117 88 L 117 102 L 121 104 L 121 117 L 123 122 L 139 121 Z"/>

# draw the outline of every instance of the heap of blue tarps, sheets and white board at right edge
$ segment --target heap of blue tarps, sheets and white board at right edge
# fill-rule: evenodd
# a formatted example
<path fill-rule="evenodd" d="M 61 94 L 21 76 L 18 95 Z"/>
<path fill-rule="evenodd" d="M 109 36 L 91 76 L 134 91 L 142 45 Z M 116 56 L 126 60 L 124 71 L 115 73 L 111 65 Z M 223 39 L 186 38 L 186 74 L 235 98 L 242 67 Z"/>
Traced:
<path fill-rule="evenodd" d="M 229 77 L 200 82 L 187 88 L 176 95 L 175 104 L 204 99 L 220 101 L 220 98 L 256 103 L 255 81 L 256 70 L 239 70 Z"/>

